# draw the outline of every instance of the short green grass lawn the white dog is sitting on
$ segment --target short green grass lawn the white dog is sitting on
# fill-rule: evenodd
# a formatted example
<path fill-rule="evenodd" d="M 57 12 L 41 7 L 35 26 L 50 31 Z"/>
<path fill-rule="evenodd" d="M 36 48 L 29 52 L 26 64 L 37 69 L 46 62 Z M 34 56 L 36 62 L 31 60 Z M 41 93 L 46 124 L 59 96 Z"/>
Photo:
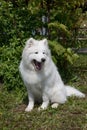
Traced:
<path fill-rule="evenodd" d="M 87 130 L 87 56 L 75 64 L 76 78 L 69 84 L 86 94 L 86 98 L 70 97 L 57 109 L 50 106 L 38 112 L 24 112 L 26 103 L 17 92 L 7 92 L 0 85 L 0 130 Z M 22 98 L 22 97 L 21 97 Z"/>

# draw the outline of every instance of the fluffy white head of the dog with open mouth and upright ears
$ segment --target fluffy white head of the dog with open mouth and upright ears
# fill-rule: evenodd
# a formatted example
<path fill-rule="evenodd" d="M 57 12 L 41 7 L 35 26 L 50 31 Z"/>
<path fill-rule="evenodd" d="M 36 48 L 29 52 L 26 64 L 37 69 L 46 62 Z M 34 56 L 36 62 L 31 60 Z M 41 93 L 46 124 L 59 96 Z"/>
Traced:
<path fill-rule="evenodd" d="M 32 70 L 40 71 L 48 62 L 50 50 L 47 39 L 35 40 L 30 38 L 23 50 L 22 58 L 24 63 Z"/>

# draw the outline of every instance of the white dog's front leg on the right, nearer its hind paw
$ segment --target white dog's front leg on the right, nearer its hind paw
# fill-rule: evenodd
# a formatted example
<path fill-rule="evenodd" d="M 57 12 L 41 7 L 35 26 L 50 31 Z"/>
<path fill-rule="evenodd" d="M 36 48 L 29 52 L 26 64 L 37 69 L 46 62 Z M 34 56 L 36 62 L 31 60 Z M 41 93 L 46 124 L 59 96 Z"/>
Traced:
<path fill-rule="evenodd" d="M 46 94 L 43 94 L 42 99 L 43 99 L 43 103 L 38 108 L 38 110 L 46 110 L 48 105 L 49 105 L 49 98 L 48 98 L 48 96 Z"/>

